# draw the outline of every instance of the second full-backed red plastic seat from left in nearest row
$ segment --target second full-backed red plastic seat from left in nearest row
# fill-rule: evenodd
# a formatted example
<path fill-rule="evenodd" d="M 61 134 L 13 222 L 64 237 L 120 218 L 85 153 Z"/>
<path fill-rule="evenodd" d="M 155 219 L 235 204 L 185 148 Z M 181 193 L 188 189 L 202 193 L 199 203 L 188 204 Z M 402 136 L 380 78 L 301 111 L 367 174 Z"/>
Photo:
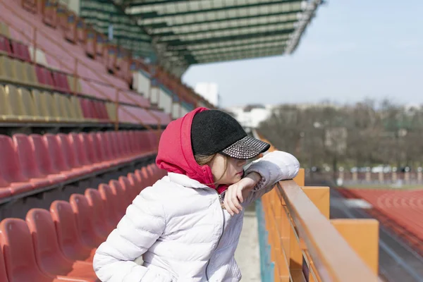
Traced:
<path fill-rule="evenodd" d="M 50 274 L 63 274 L 72 270 L 72 262 L 61 253 L 56 227 L 47 209 L 30 209 L 26 223 L 32 235 L 35 258 L 39 267 Z"/>

